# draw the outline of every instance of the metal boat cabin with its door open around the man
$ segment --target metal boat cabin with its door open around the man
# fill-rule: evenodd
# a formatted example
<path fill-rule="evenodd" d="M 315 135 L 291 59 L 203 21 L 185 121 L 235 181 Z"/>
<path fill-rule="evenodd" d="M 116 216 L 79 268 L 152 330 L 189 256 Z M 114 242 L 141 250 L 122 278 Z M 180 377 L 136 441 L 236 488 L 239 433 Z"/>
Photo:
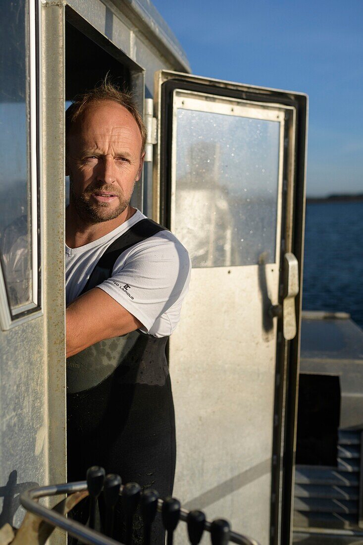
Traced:
<path fill-rule="evenodd" d="M 2 522 L 67 480 L 64 112 L 108 74 L 148 128 L 132 204 L 192 261 L 168 343 L 174 494 L 290 542 L 307 96 L 193 75 L 147 0 L 14 0 L 0 25 Z"/>

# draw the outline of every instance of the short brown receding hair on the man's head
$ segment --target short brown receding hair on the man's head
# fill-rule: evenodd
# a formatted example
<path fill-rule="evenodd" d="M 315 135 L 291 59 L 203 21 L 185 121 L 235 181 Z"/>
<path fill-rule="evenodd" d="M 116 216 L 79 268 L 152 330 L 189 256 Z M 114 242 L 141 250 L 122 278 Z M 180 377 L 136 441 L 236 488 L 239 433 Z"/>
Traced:
<path fill-rule="evenodd" d="M 76 122 L 78 117 L 82 115 L 84 110 L 86 110 L 90 104 L 102 102 L 104 100 L 117 102 L 117 104 L 120 104 L 131 113 L 131 116 L 135 119 L 137 126 L 140 129 L 142 140 L 141 153 L 143 153 L 147 133 L 141 114 L 137 110 L 136 102 L 131 93 L 121 91 L 118 87 L 115 87 L 112 83 L 110 83 L 107 80 L 107 77 L 94 89 L 77 95 L 69 108 L 67 108 L 65 112 L 65 142 L 67 142 L 72 125 Z"/>

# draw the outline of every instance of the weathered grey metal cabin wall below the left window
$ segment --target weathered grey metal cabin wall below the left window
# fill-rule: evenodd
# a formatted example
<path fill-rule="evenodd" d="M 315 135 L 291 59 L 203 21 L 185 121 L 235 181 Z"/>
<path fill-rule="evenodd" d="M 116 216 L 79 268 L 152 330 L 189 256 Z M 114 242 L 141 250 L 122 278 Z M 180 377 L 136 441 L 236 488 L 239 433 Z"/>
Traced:
<path fill-rule="evenodd" d="M 0 526 L 20 524 L 19 493 L 47 478 L 44 344 L 44 318 L 0 332 Z"/>

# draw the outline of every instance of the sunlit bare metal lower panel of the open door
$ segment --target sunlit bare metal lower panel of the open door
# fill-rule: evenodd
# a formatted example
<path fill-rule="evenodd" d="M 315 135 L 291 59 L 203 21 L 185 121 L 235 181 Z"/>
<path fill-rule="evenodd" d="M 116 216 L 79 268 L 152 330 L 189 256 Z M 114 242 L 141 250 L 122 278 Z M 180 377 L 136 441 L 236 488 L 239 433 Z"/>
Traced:
<path fill-rule="evenodd" d="M 276 298 L 270 269 L 267 282 Z M 236 297 L 241 286 L 243 300 Z M 268 543 L 276 337 L 275 327 L 263 330 L 261 297 L 258 267 L 193 269 L 170 340 L 170 371 L 174 493 L 187 508 L 201 508 L 209 518 L 219 514 L 236 531 Z"/>

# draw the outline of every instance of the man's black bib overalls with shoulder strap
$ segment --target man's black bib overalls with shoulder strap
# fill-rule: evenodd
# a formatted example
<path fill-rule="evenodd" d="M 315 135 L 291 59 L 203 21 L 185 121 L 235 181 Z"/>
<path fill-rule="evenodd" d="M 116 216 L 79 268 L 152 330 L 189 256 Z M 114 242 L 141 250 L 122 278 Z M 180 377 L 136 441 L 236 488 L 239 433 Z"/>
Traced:
<path fill-rule="evenodd" d="M 82 293 L 112 276 L 123 251 L 162 230 L 148 219 L 132 226 L 107 248 Z M 155 488 L 161 497 L 171 495 L 176 445 L 167 338 L 133 331 L 68 358 L 68 481 L 84 480 L 88 467 L 101 465 L 106 473 L 119 474 L 123 483 L 134 481 L 143 488 Z M 102 505 L 100 510 L 102 516 Z M 83 517 L 82 522 L 87 506 L 83 511 L 80 507 L 75 515 Z M 120 504 L 116 512 L 114 537 L 122 540 Z M 153 543 L 161 545 L 160 520 L 154 526 Z M 136 515 L 134 543 L 141 540 L 141 519 Z"/>

